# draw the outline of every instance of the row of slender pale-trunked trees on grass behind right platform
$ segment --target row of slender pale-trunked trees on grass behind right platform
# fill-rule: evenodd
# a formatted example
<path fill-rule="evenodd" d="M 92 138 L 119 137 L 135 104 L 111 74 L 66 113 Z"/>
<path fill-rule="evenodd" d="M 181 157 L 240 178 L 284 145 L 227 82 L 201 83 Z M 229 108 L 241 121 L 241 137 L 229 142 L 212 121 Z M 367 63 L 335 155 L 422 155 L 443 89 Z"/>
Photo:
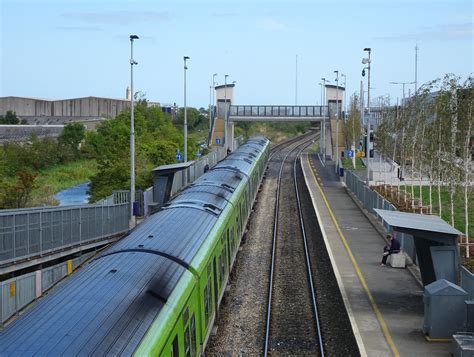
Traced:
<path fill-rule="evenodd" d="M 474 79 L 448 74 L 423 85 L 402 106 L 385 108 L 375 135 L 377 150 L 409 179 L 410 209 L 439 215 L 467 238 L 474 223 L 473 106 Z M 398 180 L 385 184 L 400 190 Z"/>

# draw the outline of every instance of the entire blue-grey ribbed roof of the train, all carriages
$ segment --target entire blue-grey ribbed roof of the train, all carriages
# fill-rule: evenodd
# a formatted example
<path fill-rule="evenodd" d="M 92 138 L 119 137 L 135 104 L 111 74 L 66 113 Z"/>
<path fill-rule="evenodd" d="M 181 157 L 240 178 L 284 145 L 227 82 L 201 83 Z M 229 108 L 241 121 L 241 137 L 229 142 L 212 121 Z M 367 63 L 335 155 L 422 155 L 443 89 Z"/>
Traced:
<path fill-rule="evenodd" d="M 132 354 L 266 143 L 242 145 L 0 332 L 0 354 Z"/>

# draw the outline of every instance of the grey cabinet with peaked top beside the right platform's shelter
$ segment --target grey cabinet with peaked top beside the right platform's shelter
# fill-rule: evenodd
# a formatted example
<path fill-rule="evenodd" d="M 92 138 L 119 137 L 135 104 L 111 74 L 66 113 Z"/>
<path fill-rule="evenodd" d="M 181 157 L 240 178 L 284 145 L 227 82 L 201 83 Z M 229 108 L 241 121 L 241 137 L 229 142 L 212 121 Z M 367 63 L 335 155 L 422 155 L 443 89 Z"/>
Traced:
<path fill-rule="evenodd" d="M 463 288 L 446 279 L 425 286 L 423 332 L 432 339 L 445 339 L 463 331 L 467 299 Z"/>

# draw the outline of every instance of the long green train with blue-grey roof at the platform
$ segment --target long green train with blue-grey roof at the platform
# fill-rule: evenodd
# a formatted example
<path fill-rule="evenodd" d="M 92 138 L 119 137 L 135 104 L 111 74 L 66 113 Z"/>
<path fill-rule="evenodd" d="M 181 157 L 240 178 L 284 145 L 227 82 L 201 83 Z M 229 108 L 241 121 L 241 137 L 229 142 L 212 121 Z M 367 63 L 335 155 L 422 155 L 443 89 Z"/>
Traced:
<path fill-rule="evenodd" d="M 203 354 L 269 160 L 249 139 L 0 331 L 0 355 Z"/>

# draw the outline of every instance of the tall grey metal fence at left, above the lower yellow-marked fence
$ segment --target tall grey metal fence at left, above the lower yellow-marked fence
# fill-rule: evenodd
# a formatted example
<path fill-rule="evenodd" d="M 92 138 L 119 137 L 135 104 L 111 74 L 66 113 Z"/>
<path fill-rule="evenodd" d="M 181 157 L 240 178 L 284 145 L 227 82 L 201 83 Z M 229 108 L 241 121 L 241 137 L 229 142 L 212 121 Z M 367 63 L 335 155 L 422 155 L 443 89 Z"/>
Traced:
<path fill-rule="evenodd" d="M 128 204 L 0 211 L 0 266 L 128 230 Z"/>

